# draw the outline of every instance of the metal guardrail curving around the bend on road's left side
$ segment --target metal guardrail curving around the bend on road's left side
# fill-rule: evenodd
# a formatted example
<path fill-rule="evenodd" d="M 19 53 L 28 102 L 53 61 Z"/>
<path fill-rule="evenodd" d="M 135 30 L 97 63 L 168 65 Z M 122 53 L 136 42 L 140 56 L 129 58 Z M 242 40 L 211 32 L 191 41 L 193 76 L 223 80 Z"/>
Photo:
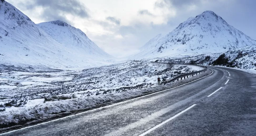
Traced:
<path fill-rule="evenodd" d="M 203 72 L 205 72 L 205 71 L 208 69 L 206 66 L 195 65 L 195 64 L 166 63 L 166 62 L 153 62 L 153 63 L 161 63 L 161 64 L 164 63 L 164 64 L 174 64 L 174 65 L 192 65 L 192 66 L 198 66 L 198 67 L 204 68 L 203 70 L 200 70 L 200 71 L 195 71 L 195 72 L 190 72 L 190 73 L 181 74 L 181 75 L 176 76 L 175 78 L 172 78 L 172 79 L 170 79 L 170 80 L 161 82 L 161 84 L 164 84 L 164 85 L 165 85 L 166 83 L 174 82 L 175 80 L 179 80 L 179 78 L 181 78 L 181 80 L 182 80 L 182 78 L 186 79 L 186 77 L 188 78 L 188 76 L 191 76 L 191 75 L 192 75 L 192 77 L 193 77 L 194 75 L 197 75 L 198 73 L 199 73 L 199 74 L 200 74 L 200 73 L 203 73 Z"/>

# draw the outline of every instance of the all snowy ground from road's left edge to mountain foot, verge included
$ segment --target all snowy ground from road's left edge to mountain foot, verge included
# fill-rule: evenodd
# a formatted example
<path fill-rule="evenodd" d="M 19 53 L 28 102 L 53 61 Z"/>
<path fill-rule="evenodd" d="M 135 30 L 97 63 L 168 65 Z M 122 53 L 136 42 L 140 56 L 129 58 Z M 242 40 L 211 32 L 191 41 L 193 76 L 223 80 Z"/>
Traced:
<path fill-rule="evenodd" d="M 181 83 L 157 86 L 157 77 L 166 80 L 200 69 L 174 65 L 170 70 L 166 64 L 126 61 L 83 71 L 29 73 L 5 70 L 0 78 L 0 126 L 5 128 L 24 121 L 47 120 L 70 111 L 86 110 L 168 89 Z"/>

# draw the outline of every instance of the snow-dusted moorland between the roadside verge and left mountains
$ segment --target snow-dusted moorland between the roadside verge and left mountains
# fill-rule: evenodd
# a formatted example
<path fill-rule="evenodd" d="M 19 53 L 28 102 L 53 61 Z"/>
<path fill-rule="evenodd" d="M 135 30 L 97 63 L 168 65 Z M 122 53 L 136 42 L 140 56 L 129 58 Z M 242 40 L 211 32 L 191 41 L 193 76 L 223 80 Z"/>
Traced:
<path fill-rule="evenodd" d="M 171 79 L 179 74 L 198 71 L 196 66 L 174 65 L 151 62 L 126 61 L 81 71 L 47 70 L 30 67 L 31 72 L 19 66 L 3 67 L 0 74 L 0 99 L 7 105 L 23 107 L 28 100 L 53 96 L 94 96 L 131 89 L 155 87 L 157 78 Z M 15 71 L 12 71 L 12 70 Z M 5 106 L 8 107 L 8 106 Z"/>

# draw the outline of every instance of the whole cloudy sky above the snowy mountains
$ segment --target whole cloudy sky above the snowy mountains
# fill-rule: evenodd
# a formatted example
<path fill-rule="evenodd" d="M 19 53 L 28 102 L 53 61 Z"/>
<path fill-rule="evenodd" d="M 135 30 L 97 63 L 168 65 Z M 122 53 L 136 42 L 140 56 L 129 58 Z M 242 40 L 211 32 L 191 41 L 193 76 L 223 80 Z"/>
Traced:
<path fill-rule="evenodd" d="M 36 24 L 62 20 L 81 29 L 110 55 L 139 52 L 151 38 L 168 34 L 206 10 L 256 39 L 255 0 L 6 0 Z"/>

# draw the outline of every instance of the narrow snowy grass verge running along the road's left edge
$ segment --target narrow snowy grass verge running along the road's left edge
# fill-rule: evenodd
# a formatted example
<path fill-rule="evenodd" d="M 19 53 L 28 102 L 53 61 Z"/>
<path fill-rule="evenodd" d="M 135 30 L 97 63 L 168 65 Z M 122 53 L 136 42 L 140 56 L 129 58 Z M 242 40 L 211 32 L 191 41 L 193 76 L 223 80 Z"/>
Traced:
<path fill-rule="evenodd" d="M 211 71 L 208 70 L 205 73 L 186 78 L 185 80 L 179 80 L 155 87 L 146 87 L 143 89 L 131 89 L 129 91 L 99 94 L 90 97 L 83 96 L 74 99 L 49 101 L 36 105 L 33 105 L 33 102 L 29 102 L 29 107 L 13 108 L 11 110 L 0 112 L 0 131 L 5 131 L 7 127 L 14 125 L 37 123 L 44 120 L 65 116 L 79 110 L 84 111 L 95 107 L 113 104 L 126 99 L 143 96 L 155 91 L 169 89 L 204 77 L 210 73 Z M 38 101 L 34 100 L 34 103 L 37 103 Z"/>

